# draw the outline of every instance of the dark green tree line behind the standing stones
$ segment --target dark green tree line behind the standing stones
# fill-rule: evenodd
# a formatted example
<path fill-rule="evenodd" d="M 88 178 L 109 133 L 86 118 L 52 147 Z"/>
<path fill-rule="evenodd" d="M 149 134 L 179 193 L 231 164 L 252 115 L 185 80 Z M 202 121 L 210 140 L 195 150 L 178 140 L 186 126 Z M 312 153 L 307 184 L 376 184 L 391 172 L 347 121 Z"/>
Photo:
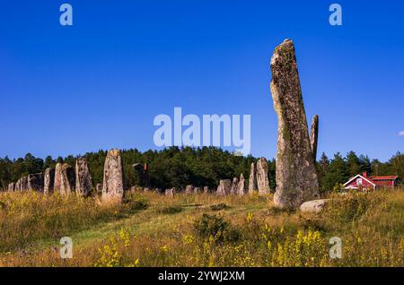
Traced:
<path fill-rule="evenodd" d="M 102 183 L 104 161 L 107 151 L 87 152 L 87 159 L 92 182 L 95 186 Z M 141 185 L 140 177 L 133 165 L 147 163 L 149 167 L 150 186 L 166 189 L 184 188 L 187 185 L 209 186 L 211 189 L 219 184 L 220 179 L 233 179 L 241 174 L 248 179 L 250 164 L 258 158 L 252 156 L 235 156 L 233 152 L 215 147 L 170 147 L 162 151 L 141 152 L 136 149 L 121 151 L 124 179 L 126 186 Z M 46 168 L 55 168 L 57 162 L 64 162 L 75 167 L 76 157 L 45 160 L 27 153 L 24 158 L 10 160 L 0 158 L 0 187 L 6 188 L 10 182 L 17 181 L 28 174 L 43 172 Z M 329 159 L 325 153 L 316 163 L 319 184 L 322 192 L 330 191 L 349 177 L 367 172 L 370 175 L 399 175 L 404 177 L 404 154 L 397 152 L 387 162 L 370 160 L 367 156 L 357 156 L 349 151 L 345 157 L 339 152 Z M 271 189 L 276 186 L 276 162 L 268 160 L 268 177 Z"/>

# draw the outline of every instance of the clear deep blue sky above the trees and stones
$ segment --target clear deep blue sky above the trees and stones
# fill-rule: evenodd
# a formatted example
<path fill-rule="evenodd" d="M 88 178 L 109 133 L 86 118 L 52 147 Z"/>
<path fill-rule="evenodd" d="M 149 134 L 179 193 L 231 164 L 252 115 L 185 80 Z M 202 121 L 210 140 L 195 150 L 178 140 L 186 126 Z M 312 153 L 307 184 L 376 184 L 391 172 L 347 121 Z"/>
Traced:
<path fill-rule="evenodd" d="M 404 151 L 403 14 L 398 0 L 2 1 L 0 157 L 154 149 L 154 117 L 181 107 L 250 114 L 252 155 L 273 158 L 269 60 L 289 38 L 319 151 L 388 160 Z"/>

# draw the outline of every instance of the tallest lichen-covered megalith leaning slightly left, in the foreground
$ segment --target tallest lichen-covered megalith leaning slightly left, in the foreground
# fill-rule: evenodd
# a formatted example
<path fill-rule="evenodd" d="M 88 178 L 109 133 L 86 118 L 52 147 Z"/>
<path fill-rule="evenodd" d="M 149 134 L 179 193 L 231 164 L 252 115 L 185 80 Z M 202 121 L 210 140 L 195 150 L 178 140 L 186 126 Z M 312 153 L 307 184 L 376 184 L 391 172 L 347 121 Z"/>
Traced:
<path fill-rule="evenodd" d="M 297 209 L 318 194 L 319 184 L 303 106 L 294 43 L 286 39 L 271 59 L 270 84 L 277 112 L 277 192 L 279 208 Z"/>

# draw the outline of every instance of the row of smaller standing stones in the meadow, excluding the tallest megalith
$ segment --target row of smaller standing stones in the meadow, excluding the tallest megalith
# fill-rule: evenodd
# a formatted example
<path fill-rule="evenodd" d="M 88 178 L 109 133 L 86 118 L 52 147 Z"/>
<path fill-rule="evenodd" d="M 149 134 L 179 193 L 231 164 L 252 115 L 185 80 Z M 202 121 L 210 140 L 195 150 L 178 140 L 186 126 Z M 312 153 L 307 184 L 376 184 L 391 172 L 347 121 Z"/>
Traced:
<path fill-rule="evenodd" d="M 251 183 L 248 189 L 245 186 L 245 179 L 241 175 L 240 180 L 234 177 L 233 183 L 229 179 L 221 180 L 217 190 L 213 192 L 219 195 L 243 195 L 253 192 L 259 192 L 259 194 L 269 193 L 267 160 L 264 158 L 259 159 L 257 168 L 254 163 L 251 164 L 250 179 Z M 132 190 L 133 188 L 136 188 L 136 186 L 130 189 Z M 88 168 L 87 160 L 78 158 L 75 161 L 75 169 L 66 163 L 57 163 L 55 169 L 47 168 L 44 173 L 30 174 L 28 177 L 22 177 L 16 183 L 11 183 L 8 186 L 8 191 L 10 192 L 28 190 L 42 192 L 43 194 L 58 192 L 64 196 L 72 193 L 88 196 L 92 191 L 92 175 Z M 124 197 L 124 190 L 120 152 L 119 150 L 111 150 L 108 152 L 104 164 L 103 184 L 102 186 L 100 184 L 96 186 L 96 192 L 102 194 L 102 201 L 115 200 L 121 202 Z M 144 191 L 147 192 L 150 189 L 145 188 Z M 153 191 L 167 196 L 177 193 L 176 188 L 166 189 L 164 192 L 155 188 Z M 190 185 L 180 192 L 185 192 L 185 194 L 211 193 L 207 186 L 201 188 Z"/>

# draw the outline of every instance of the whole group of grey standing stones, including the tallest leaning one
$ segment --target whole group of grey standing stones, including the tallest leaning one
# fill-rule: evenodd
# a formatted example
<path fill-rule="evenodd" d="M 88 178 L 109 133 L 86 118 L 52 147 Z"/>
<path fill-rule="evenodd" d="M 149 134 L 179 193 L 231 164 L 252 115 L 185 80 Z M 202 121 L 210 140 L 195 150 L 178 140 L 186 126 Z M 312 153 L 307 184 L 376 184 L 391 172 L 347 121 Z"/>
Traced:
<path fill-rule="evenodd" d="M 272 80 L 270 90 L 274 108 L 278 118 L 277 128 L 277 189 L 274 194 L 274 204 L 281 209 L 305 209 L 304 211 L 318 212 L 326 201 L 310 202 L 319 196 L 319 184 L 315 168 L 319 117 L 312 119 L 311 134 L 303 105 L 303 96 L 299 73 L 297 69 L 294 43 L 290 39 L 275 48 L 271 58 Z M 124 179 L 122 160 L 119 150 L 108 152 L 104 165 L 102 200 L 122 201 L 124 195 Z M 53 191 L 60 194 L 70 194 L 75 191 L 79 195 L 87 195 L 92 189 L 92 177 L 83 158 L 77 159 L 75 169 L 67 164 L 58 163 L 55 169 L 46 169 L 45 173 L 31 174 L 22 177 L 9 186 L 9 191 L 37 190 L 48 194 Z M 148 189 L 145 189 L 146 191 Z M 159 189 L 154 191 L 162 192 Z M 221 180 L 215 194 L 268 194 L 268 164 L 261 158 L 257 165 L 251 164 L 249 185 L 245 185 L 243 175 Z M 210 192 L 207 187 L 187 186 L 185 193 Z M 171 188 L 163 192 L 167 196 L 177 193 Z M 314 206 L 311 206 L 311 205 Z M 307 210 L 309 209 L 309 210 Z"/>

